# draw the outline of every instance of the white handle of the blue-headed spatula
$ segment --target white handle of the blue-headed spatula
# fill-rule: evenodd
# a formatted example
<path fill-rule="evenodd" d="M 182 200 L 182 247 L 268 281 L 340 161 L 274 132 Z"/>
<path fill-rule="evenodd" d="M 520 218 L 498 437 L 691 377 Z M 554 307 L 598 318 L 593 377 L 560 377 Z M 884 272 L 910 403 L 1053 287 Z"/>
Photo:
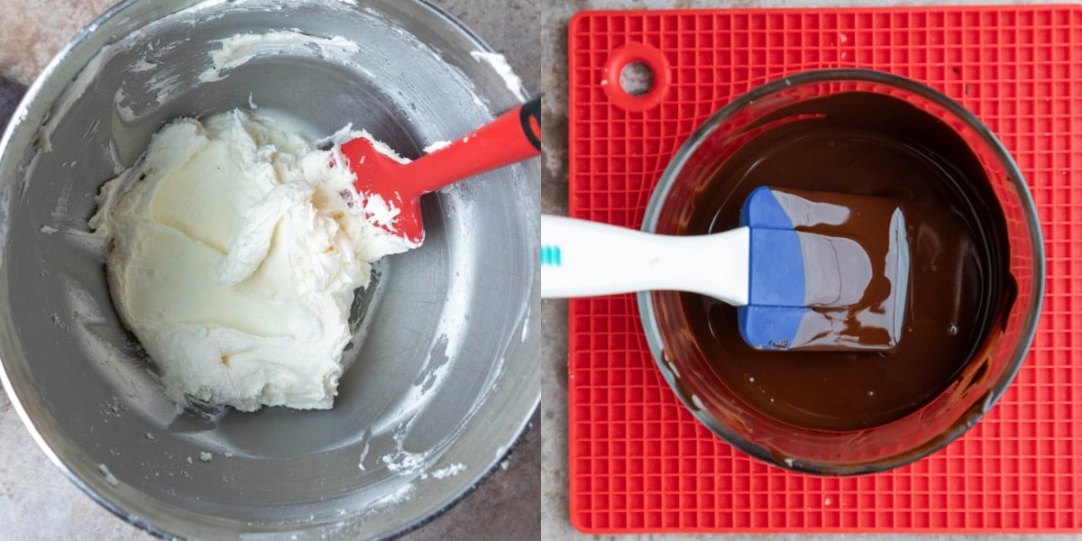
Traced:
<path fill-rule="evenodd" d="M 694 291 L 748 304 L 747 227 L 705 235 L 652 235 L 564 216 L 541 216 L 541 296 Z"/>

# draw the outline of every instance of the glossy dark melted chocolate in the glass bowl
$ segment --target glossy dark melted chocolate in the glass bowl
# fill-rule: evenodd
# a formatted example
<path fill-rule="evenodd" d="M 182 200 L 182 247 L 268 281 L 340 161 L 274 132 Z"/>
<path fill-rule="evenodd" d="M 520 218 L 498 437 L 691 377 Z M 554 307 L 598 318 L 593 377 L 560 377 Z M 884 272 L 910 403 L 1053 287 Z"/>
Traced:
<path fill-rule="evenodd" d="M 884 208 L 905 215 L 911 258 L 897 344 L 876 353 L 756 351 L 741 340 L 734 307 L 683 293 L 690 331 L 729 390 L 779 421 L 840 431 L 905 417 L 950 384 L 1010 302 L 1005 224 L 984 169 L 946 124 L 894 97 L 841 94 L 773 117 L 776 126 L 698 194 L 683 233 L 737 226 L 760 186 L 888 201 Z M 869 291 L 887 294 L 887 286 Z"/>

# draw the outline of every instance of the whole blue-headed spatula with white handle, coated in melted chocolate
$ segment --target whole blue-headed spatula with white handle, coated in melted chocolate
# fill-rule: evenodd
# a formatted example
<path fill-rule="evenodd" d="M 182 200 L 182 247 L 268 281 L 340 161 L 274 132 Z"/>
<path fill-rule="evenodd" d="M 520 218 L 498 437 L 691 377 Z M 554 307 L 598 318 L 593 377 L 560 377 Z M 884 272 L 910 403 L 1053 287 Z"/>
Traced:
<path fill-rule="evenodd" d="M 736 305 L 757 348 L 894 347 L 909 265 L 901 211 L 875 197 L 761 187 L 740 227 L 704 236 L 541 219 L 542 296 L 701 293 Z"/>

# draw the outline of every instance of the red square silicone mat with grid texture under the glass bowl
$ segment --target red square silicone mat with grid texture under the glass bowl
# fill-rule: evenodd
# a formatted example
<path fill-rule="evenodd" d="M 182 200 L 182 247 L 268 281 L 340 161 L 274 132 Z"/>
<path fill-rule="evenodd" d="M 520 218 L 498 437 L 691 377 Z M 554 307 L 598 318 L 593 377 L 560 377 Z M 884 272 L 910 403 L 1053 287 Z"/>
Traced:
<path fill-rule="evenodd" d="M 668 95 L 638 113 L 605 89 L 611 52 L 634 42 L 660 51 L 671 78 Z M 632 295 L 572 301 L 577 528 L 1082 528 L 1082 8 L 588 12 L 570 24 L 569 64 L 573 216 L 638 227 L 672 153 L 726 102 L 788 72 L 861 66 L 945 92 L 1000 136 L 1039 207 L 1048 275 L 1032 351 L 992 411 L 927 459 L 849 478 L 740 454 L 665 385 Z"/>

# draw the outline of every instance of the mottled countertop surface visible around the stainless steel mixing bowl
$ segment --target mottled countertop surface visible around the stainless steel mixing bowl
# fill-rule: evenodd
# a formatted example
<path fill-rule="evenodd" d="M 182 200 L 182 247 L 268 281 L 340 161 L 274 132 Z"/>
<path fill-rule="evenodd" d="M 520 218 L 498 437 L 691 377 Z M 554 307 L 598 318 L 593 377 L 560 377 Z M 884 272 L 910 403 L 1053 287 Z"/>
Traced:
<path fill-rule="evenodd" d="M 529 91 L 539 88 L 541 8 L 528 0 L 430 0 L 504 53 Z M 0 0 L 0 77 L 27 84 L 76 32 L 114 0 Z M 541 431 L 538 415 L 473 492 L 400 539 L 537 539 Z M 38 449 L 0 393 L 0 540 L 150 539 L 69 483 Z"/>

